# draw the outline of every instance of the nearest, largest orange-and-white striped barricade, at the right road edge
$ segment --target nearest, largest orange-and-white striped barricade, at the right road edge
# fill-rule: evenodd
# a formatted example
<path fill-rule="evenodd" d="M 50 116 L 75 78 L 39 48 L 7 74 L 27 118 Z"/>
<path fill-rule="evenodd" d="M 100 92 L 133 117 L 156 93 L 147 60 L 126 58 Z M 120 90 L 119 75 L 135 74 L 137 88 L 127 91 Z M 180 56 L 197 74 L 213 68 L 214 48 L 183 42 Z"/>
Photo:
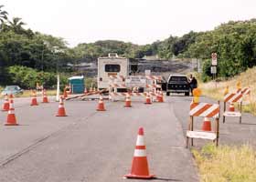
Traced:
<path fill-rule="evenodd" d="M 193 138 L 209 139 L 219 144 L 219 104 L 208 103 L 191 103 L 189 111 L 188 129 L 187 129 L 187 147 L 189 145 L 189 138 L 191 139 L 191 146 L 193 146 Z M 209 117 L 215 119 L 214 131 L 194 130 L 194 117 Z"/>

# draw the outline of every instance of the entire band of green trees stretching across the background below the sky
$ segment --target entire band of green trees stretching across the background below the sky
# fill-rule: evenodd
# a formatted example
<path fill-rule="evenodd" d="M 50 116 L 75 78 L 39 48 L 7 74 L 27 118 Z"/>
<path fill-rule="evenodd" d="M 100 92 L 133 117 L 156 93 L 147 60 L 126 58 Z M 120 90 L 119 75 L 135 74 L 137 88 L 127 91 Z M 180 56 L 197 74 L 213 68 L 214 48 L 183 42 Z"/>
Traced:
<path fill-rule="evenodd" d="M 7 67 L 27 66 L 35 72 L 71 72 L 81 62 L 95 62 L 100 56 L 117 53 L 129 58 L 158 55 L 203 60 L 203 79 L 210 78 L 210 55 L 218 54 L 218 76 L 234 76 L 256 65 L 256 20 L 230 21 L 208 32 L 189 32 L 181 37 L 170 35 L 151 45 L 134 45 L 123 41 L 105 40 L 82 43 L 69 48 L 59 37 L 25 29 L 21 18 L 8 19 L 0 5 L 0 85 L 7 83 Z"/>

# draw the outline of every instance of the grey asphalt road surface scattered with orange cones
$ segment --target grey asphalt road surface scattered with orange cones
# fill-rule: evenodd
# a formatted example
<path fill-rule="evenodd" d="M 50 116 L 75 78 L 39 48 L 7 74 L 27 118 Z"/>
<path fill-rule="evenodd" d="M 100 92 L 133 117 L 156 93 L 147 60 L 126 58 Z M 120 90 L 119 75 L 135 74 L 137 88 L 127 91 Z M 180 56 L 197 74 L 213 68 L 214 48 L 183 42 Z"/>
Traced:
<path fill-rule="evenodd" d="M 55 116 L 56 102 L 28 106 L 28 98 L 16 99 L 21 126 L 0 126 L 0 181 L 128 181 L 123 175 L 130 172 L 140 126 L 155 181 L 198 181 L 174 98 L 188 97 L 151 106 L 133 102 L 132 108 L 106 102 L 106 112 L 95 111 L 97 101 L 67 101 L 67 117 Z M 5 116 L 0 113 L 3 124 Z"/>

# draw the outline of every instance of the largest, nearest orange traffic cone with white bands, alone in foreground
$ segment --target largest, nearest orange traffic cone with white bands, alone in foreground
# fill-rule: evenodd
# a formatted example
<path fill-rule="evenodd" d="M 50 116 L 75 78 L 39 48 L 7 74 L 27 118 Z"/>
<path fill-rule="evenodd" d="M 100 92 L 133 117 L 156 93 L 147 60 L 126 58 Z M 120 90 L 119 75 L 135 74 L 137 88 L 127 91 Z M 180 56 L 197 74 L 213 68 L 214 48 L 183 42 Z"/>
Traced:
<path fill-rule="evenodd" d="M 131 173 L 125 175 L 127 178 L 150 179 L 155 175 L 150 175 L 147 164 L 147 157 L 144 145 L 144 128 L 140 127 L 138 131 L 136 147 L 133 155 L 133 163 Z"/>

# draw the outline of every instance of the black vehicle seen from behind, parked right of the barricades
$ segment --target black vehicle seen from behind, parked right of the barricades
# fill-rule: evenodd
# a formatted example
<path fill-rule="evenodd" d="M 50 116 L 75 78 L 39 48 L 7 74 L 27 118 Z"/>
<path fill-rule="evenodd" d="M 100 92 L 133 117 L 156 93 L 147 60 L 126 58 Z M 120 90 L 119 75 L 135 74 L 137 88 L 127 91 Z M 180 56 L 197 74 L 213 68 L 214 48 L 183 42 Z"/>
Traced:
<path fill-rule="evenodd" d="M 189 96 L 190 86 L 187 80 L 187 76 L 184 75 L 170 75 L 166 84 L 166 95 L 170 96 L 170 93 L 184 93 L 185 96 Z"/>

